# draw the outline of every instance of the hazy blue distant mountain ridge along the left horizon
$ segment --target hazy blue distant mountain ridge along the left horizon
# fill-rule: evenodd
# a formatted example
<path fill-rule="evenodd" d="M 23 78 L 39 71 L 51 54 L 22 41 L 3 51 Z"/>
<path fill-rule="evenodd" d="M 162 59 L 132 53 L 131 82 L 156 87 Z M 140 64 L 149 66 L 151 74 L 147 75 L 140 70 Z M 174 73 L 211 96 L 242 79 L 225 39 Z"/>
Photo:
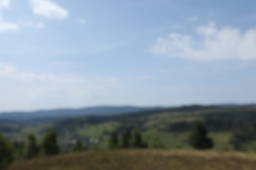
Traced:
<path fill-rule="evenodd" d="M 0 113 L 0 122 L 4 120 L 20 123 L 45 123 L 56 120 L 75 118 L 78 116 L 107 116 L 111 114 L 124 114 L 144 110 L 161 110 L 164 107 L 87 107 L 84 109 L 56 109 L 39 110 L 35 112 L 3 112 Z"/>

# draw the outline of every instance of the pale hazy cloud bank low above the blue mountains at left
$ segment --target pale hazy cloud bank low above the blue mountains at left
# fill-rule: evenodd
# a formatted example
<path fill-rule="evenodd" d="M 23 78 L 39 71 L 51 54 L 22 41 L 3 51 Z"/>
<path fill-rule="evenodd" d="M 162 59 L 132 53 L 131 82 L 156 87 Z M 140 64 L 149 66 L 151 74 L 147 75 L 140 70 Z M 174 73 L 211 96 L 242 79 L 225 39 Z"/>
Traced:
<path fill-rule="evenodd" d="M 3 110 L 83 107 L 116 89 L 116 77 L 84 78 L 74 75 L 22 71 L 0 63 L 0 108 Z"/>

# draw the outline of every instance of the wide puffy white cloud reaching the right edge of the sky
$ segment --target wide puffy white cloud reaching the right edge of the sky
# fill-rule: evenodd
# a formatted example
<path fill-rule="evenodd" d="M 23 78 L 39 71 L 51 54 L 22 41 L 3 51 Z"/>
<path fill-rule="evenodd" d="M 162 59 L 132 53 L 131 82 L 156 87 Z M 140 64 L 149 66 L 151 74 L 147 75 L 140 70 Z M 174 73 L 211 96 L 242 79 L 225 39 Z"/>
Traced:
<path fill-rule="evenodd" d="M 187 59 L 256 59 L 256 29 L 218 29 L 214 22 L 196 28 L 196 36 L 169 33 L 150 49 L 155 54 Z"/>

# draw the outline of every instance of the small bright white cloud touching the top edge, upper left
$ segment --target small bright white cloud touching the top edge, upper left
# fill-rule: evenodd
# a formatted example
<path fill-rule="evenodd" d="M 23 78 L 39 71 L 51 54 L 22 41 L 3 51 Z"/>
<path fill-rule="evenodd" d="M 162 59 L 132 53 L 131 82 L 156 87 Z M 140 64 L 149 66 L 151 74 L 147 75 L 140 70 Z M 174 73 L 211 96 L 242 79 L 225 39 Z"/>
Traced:
<path fill-rule="evenodd" d="M 60 7 L 51 0 L 30 0 L 30 8 L 35 15 L 49 19 L 63 20 L 68 17 L 68 10 Z"/>

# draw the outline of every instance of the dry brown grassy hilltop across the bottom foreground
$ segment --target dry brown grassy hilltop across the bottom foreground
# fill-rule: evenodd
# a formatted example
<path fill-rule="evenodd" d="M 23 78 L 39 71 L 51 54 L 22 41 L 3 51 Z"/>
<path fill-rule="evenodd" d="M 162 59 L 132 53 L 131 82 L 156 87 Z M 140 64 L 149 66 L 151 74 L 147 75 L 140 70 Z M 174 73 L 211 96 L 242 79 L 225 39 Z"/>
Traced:
<path fill-rule="evenodd" d="M 9 169 L 256 169 L 256 156 L 239 152 L 114 150 L 16 162 Z"/>

